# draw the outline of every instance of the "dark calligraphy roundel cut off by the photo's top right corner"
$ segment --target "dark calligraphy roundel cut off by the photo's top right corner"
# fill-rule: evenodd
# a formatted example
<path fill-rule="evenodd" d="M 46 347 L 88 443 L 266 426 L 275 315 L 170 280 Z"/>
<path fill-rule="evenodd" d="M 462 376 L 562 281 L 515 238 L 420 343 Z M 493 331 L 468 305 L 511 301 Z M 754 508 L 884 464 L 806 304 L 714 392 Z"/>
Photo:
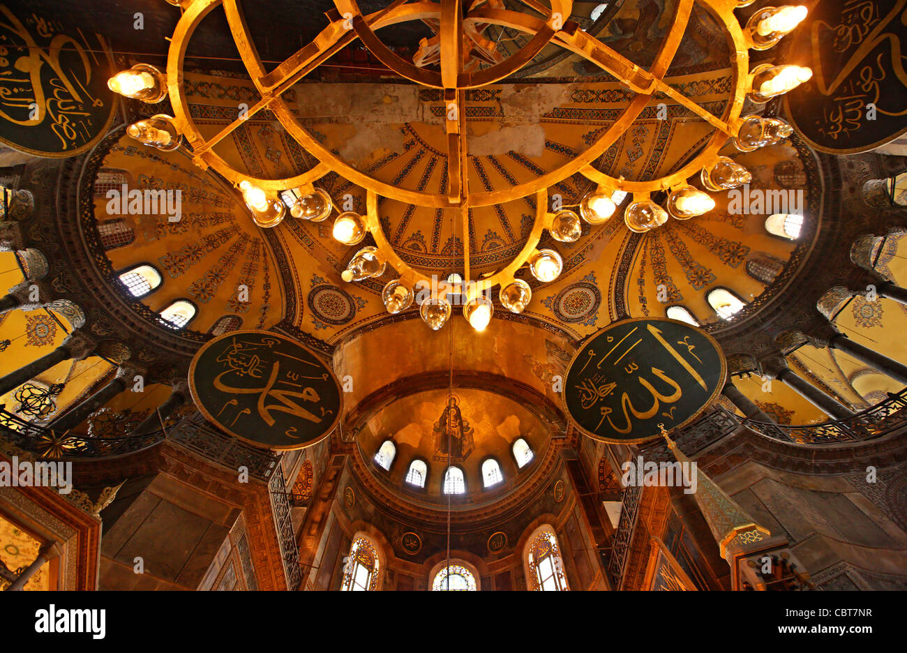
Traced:
<path fill-rule="evenodd" d="M 820 0 L 785 63 L 813 78 L 785 95 L 792 124 L 816 150 L 872 150 L 907 132 L 907 0 Z"/>

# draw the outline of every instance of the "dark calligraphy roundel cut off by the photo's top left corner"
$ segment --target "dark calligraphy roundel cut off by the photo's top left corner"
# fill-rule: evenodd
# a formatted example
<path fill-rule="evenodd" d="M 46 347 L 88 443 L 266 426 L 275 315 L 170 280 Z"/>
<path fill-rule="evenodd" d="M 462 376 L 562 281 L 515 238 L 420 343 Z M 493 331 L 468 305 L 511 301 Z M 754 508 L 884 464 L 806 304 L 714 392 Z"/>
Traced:
<path fill-rule="evenodd" d="M 110 47 L 66 13 L 0 5 L 0 142 L 43 157 L 81 154 L 113 122 Z"/>

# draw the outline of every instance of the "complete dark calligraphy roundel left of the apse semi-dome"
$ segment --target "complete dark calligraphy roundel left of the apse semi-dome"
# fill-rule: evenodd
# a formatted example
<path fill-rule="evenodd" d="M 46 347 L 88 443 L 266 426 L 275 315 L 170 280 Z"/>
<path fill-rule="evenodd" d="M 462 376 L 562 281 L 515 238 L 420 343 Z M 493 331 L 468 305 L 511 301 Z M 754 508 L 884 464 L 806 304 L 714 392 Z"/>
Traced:
<path fill-rule="evenodd" d="M 334 373 L 295 340 L 231 331 L 192 359 L 192 399 L 229 434 L 270 449 L 301 449 L 330 434 L 340 417 Z"/>

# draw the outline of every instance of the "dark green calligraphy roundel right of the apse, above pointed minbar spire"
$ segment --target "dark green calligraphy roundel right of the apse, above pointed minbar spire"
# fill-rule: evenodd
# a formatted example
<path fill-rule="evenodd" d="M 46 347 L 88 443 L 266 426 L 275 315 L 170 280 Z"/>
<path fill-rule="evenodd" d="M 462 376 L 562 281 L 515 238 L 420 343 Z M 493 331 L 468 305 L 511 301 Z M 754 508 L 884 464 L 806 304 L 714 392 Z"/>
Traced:
<path fill-rule="evenodd" d="M 614 322 L 573 356 L 563 387 L 567 414 L 607 443 L 641 443 L 688 424 L 725 383 L 725 356 L 712 336 L 672 319 Z"/>

